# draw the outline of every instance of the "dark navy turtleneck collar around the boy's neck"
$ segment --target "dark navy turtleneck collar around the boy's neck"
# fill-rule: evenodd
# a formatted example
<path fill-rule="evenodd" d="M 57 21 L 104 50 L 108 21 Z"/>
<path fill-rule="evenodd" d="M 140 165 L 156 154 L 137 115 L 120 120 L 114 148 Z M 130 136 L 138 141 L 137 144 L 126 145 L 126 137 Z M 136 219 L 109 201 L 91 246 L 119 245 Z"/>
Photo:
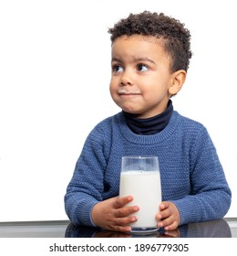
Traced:
<path fill-rule="evenodd" d="M 170 122 L 170 117 L 173 112 L 172 101 L 168 102 L 167 109 L 160 114 L 149 117 L 146 119 L 139 119 L 134 117 L 133 114 L 129 112 L 123 112 L 126 122 L 133 133 L 150 135 L 155 133 L 160 133 L 166 125 Z"/>

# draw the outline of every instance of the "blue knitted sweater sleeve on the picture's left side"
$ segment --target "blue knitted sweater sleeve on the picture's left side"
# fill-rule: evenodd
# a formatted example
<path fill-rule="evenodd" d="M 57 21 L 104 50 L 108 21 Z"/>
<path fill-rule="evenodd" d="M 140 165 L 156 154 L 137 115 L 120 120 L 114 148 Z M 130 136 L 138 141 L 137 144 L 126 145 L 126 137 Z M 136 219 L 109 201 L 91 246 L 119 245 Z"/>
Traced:
<path fill-rule="evenodd" d="M 103 132 L 96 126 L 83 146 L 65 195 L 68 218 L 76 225 L 95 226 L 91 210 L 102 200 L 103 172 L 106 160 L 103 154 Z"/>

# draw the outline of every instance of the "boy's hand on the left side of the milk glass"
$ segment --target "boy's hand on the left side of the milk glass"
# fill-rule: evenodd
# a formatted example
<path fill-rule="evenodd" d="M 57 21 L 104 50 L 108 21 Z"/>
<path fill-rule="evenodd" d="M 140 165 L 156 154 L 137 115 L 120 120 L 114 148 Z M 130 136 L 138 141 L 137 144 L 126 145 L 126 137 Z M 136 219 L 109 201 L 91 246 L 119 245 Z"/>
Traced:
<path fill-rule="evenodd" d="M 119 232 L 129 232 L 129 224 L 137 221 L 131 214 L 138 211 L 138 206 L 128 206 L 133 197 L 112 197 L 94 206 L 91 218 L 94 224 L 102 229 L 114 230 Z"/>

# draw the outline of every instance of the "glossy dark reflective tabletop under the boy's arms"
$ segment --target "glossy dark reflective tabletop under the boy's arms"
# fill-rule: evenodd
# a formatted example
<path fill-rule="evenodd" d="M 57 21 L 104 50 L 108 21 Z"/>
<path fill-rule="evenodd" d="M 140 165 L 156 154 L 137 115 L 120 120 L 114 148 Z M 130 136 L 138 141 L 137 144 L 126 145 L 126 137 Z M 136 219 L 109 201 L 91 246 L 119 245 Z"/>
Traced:
<path fill-rule="evenodd" d="M 219 219 L 182 225 L 164 234 L 163 229 L 150 234 L 129 234 L 87 226 L 69 220 L 0 222 L 0 238 L 237 238 L 237 219 Z"/>

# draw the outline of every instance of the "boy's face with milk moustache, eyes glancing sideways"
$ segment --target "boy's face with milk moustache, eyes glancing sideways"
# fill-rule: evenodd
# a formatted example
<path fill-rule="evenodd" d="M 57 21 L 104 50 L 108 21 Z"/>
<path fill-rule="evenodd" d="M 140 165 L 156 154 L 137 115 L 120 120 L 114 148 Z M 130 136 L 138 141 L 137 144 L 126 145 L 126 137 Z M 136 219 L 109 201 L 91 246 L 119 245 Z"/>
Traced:
<path fill-rule="evenodd" d="M 164 112 L 170 99 L 174 73 L 161 39 L 118 37 L 112 45 L 110 93 L 125 112 L 149 118 Z"/>

